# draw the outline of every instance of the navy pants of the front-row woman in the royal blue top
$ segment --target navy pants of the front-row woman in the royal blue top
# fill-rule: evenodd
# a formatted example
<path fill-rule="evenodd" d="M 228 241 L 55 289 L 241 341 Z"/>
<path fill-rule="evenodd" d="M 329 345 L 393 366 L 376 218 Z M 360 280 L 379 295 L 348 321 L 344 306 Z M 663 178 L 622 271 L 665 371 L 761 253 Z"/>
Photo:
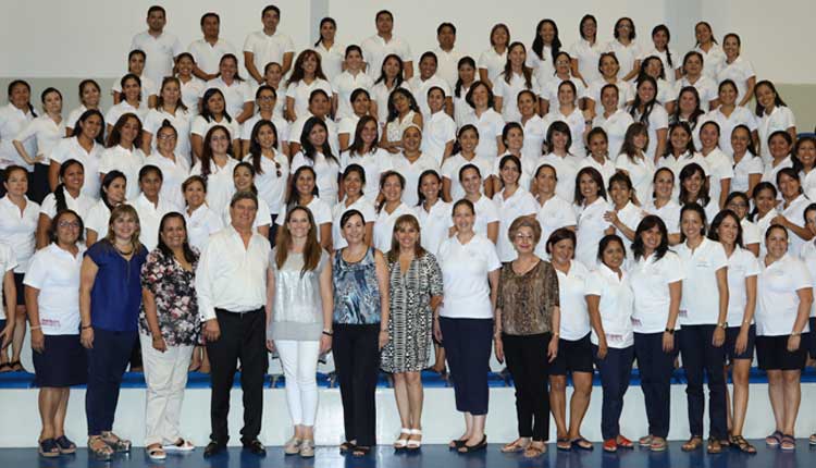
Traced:
<path fill-rule="evenodd" d="M 111 332 L 94 329 L 94 347 L 88 349 L 88 387 L 85 416 L 88 435 L 113 429 L 122 375 L 127 369 L 138 332 Z"/>

